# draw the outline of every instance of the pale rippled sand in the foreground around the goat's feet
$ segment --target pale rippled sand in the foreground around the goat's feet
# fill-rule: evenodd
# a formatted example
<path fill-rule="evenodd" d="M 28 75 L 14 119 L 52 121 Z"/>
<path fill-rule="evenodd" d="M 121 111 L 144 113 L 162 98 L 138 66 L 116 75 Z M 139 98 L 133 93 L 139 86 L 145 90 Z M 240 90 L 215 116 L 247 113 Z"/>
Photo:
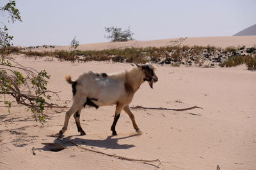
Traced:
<path fill-rule="evenodd" d="M 224 40 L 223 40 L 224 41 Z M 231 44 L 231 43 L 230 43 Z M 111 62 L 71 63 L 28 59 L 17 61 L 51 74 L 49 90 L 61 91 L 60 101 L 72 104 L 72 91 L 65 74 L 76 79 L 85 71 L 113 73 L 131 64 Z M 160 159 L 159 169 L 255 169 L 256 168 L 256 72 L 246 66 L 200 68 L 157 66 L 159 81 L 150 89 L 143 83 L 131 106 L 203 109 L 188 111 L 132 110 L 143 131 L 136 135 L 131 120 L 122 112 L 111 136 L 114 106 L 85 108 L 79 136 L 70 118 L 64 140 L 104 153 L 132 159 Z M 51 152 L 42 143 L 59 143 L 52 137 L 60 131 L 65 111 L 46 110 L 47 122 L 35 122 L 26 107 L 13 102 L 10 113 L 0 96 L 0 169 L 157 169 L 141 162 L 115 159 L 65 143 L 65 150 Z M 70 101 L 70 102 L 69 102 Z M 32 148 L 35 148 L 33 155 Z M 157 163 L 152 162 L 157 165 Z"/>

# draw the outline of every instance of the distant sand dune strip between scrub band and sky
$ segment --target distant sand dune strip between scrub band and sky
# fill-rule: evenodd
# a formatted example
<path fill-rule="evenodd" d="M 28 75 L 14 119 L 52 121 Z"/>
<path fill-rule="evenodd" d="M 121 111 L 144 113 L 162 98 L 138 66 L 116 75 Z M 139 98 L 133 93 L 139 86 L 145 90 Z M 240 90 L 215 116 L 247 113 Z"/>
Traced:
<path fill-rule="evenodd" d="M 131 48 L 131 47 L 147 47 L 147 46 L 168 46 L 173 45 L 173 41 L 177 38 L 159 39 L 152 41 L 138 41 L 132 40 L 127 42 L 114 42 L 114 43 L 93 43 L 86 45 L 79 45 L 77 50 L 105 50 L 111 48 Z M 226 48 L 228 46 L 256 46 L 256 36 L 223 36 L 223 37 L 194 37 L 187 38 L 182 41 L 181 45 L 199 45 L 199 46 L 218 46 Z M 44 48 L 40 46 L 33 50 L 70 50 L 70 46 L 55 46 L 55 48 Z"/>

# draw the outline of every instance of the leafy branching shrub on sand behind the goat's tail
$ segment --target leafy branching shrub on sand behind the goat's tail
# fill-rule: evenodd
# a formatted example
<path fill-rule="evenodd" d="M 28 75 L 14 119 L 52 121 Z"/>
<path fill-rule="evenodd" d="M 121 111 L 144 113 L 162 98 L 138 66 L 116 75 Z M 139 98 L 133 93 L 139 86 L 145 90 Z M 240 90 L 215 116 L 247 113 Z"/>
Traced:
<path fill-rule="evenodd" d="M 31 67 L 24 67 L 11 57 L 2 55 L 0 60 L 0 94 L 12 96 L 17 104 L 27 106 L 35 118 L 44 121 L 42 111 L 44 108 L 67 108 L 58 104 L 48 103 L 51 96 L 58 96 L 60 92 L 47 90 L 47 79 L 50 76 L 46 71 L 36 71 Z M 11 107 L 10 101 L 4 101 L 7 107 Z"/>

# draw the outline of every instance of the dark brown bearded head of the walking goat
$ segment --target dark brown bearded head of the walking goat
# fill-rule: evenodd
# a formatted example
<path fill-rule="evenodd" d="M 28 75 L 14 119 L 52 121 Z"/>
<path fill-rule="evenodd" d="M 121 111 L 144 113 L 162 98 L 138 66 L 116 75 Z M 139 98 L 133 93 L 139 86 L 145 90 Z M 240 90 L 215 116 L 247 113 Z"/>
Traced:
<path fill-rule="evenodd" d="M 145 75 L 143 78 L 144 81 L 148 81 L 149 86 L 153 89 L 153 83 L 156 83 L 158 81 L 158 78 L 156 76 L 156 66 L 152 64 L 147 64 L 147 65 L 138 65 L 136 64 L 137 67 L 140 67 Z"/>

